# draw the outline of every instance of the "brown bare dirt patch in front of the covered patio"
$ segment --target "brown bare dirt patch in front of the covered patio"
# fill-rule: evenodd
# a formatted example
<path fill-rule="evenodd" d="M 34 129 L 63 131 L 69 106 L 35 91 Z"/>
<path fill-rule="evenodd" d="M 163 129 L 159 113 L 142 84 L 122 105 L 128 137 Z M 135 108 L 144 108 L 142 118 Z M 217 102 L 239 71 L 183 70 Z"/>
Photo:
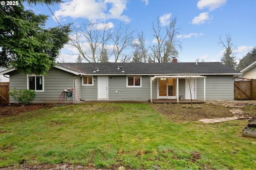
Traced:
<path fill-rule="evenodd" d="M 193 104 L 192 107 L 191 104 L 151 104 L 151 106 L 170 121 L 178 123 L 234 116 L 251 117 L 256 114 L 256 101 L 210 101 L 206 104 Z M 250 109 L 246 109 L 248 107 Z M 242 113 L 232 113 L 234 108 Z"/>

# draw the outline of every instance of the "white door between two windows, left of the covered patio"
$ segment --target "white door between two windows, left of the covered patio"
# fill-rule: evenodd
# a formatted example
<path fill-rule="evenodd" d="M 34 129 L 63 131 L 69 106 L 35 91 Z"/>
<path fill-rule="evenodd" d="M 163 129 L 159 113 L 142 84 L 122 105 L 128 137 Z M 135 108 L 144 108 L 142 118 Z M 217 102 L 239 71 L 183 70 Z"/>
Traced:
<path fill-rule="evenodd" d="M 98 100 L 108 100 L 108 76 L 98 76 Z"/>

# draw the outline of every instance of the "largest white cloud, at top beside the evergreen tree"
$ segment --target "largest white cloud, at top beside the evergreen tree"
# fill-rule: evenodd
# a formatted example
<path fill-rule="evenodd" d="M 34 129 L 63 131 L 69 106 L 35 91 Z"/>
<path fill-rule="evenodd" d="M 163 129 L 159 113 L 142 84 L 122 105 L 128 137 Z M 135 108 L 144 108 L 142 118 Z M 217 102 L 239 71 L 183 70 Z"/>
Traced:
<path fill-rule="evenodd" d="M 60 10 L 54 12 L 58 18 L 86 18 L 88 20 L 118 19 L 129 22 L 128 16 L 122 15 L 126 9 L 126 0 L 71 0 L 60 4 Z M 110 6 L 110 9 L 108 7 Z"/>

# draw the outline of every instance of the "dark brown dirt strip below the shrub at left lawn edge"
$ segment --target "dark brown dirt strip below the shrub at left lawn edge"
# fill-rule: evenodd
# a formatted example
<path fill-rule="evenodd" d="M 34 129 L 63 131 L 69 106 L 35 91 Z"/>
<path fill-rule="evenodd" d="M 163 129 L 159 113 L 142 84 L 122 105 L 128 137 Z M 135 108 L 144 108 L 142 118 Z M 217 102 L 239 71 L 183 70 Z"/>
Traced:
<path fill-rule="evenodd" d="M 50 109 L 55 107 L 53 104 L 28 104 L 22 106 L 21 104 L 0 104 L 0 118 L 15 116 L 20 113 L 34 111 L 38 109 Z"/>

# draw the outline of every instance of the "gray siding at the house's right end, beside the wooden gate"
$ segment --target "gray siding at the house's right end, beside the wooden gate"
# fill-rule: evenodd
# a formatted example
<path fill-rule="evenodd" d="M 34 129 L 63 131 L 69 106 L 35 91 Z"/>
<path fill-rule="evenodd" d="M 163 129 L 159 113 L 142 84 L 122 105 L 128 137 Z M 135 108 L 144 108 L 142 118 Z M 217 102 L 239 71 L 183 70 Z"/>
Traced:
<path fill-rule="evenodd" d="M 204 99 L 204 79 L 197 79 L 197 99 Z M 207 76 L 206 100 L 234 100 L 233 76 Z"/>

